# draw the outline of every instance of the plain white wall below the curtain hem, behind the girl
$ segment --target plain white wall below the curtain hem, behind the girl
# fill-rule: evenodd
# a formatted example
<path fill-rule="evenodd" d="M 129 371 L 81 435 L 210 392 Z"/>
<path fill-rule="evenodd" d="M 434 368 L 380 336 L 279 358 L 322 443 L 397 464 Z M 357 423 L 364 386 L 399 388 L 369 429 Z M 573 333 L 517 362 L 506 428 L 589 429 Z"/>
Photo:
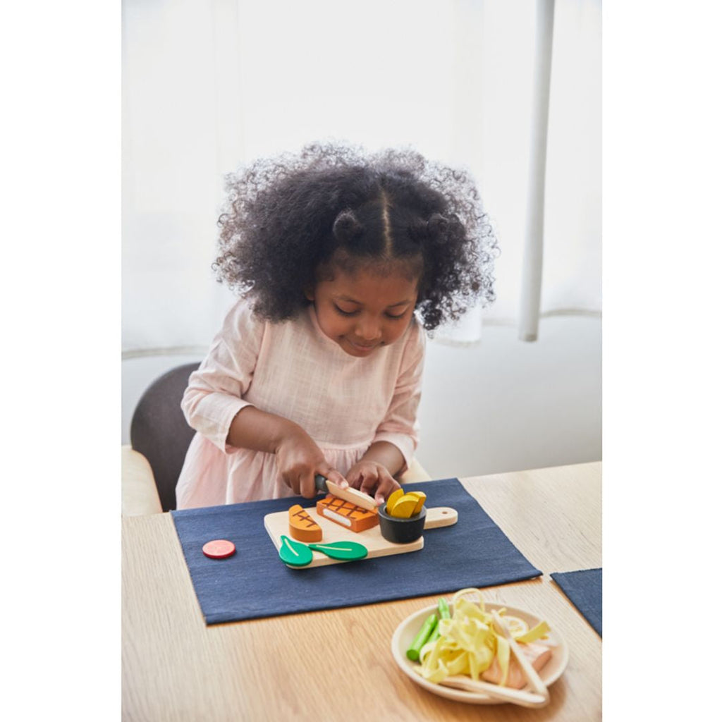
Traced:
<path fill-rule="evenodd" d="M 516 334 L 487 324 L 474 347 L 427 345 L 417 456 L 433 478 L 601 459 L 601 318 L 543 318 L 534 343 Z M 123 361 L 123 443 L 144 388 L 200 359 Z"/>

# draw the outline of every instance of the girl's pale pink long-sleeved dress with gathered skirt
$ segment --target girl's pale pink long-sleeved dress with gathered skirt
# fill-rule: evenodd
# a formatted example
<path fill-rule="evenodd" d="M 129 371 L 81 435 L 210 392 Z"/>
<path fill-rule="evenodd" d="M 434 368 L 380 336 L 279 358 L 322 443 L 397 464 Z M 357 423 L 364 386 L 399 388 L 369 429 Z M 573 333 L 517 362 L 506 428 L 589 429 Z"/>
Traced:
<path fill-rule="evenodd" d="M 313 305 L 293 321 L 268 323 L 240 300 L 181 402 L 196 435 L 176 486 L 178 508 L 293 494 L 275 454 L 226 443 L 233 417 L 249 404 L 300 425 L 341 474 L 375 441 L 396 445 L 408 466 L 418 443 L 425 343 L 414 318 L 396 342 L 357 358 L 323 334 Z"/>

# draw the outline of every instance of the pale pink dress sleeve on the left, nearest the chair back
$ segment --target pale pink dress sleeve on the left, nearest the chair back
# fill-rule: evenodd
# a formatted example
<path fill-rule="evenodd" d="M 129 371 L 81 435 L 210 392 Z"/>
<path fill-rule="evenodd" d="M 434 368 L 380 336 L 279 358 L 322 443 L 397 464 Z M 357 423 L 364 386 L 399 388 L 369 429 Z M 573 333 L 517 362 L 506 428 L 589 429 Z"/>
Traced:
<path fill-rule="evenodd" d="M 240 409 L 251 405 L 243 394 L 251 384 L 263 335 L 264 323 L 246 303 L 236 303 L 188 379 L 181 401 L 186 421 L 221 451 L 234 451 L 226 444 L 230 424 Z"/>

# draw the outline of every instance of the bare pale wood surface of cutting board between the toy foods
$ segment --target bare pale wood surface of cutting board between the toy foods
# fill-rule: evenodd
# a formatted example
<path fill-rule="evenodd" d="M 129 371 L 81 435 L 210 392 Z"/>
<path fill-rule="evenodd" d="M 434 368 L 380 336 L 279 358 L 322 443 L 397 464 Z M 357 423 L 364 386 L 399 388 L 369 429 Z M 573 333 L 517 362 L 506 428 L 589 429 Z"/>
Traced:
<path fill-rule="evenodd" d="M 318 516 L 316 507 L 305 508 L 310 518 L 315 521 L 323 530 L 323 539 L 321 544 L 329 541 L 357 541 L 368 549 L 368 555 L 365 559 L 373 559 L 373 557 L 386 557 L 390 554 L 408 554 L 409 552 L 418 552 L 424 548 L 424 537 L 412 541 L 409 544 L 393 544 L 391 541 L 381 536 L 381 530 L 378 526 L 366 531 L 351 531 L 346 527 L 337 524 L 335 521 Z M 288 530 L 288 511 L 277 511 L 273 514 L 264 516 L 264 526 L 269 536 L 276 545 L 276 549 L 281 547 L 281 536 L 291 536 Z M 296 569 L 310 569 L 311 567 L 325 567 L 329 564 L 344 564 L 341 560 L 331 559 L 321 552 L 313 552 L 313 562 L 305 567 L 295 567 Z"/>

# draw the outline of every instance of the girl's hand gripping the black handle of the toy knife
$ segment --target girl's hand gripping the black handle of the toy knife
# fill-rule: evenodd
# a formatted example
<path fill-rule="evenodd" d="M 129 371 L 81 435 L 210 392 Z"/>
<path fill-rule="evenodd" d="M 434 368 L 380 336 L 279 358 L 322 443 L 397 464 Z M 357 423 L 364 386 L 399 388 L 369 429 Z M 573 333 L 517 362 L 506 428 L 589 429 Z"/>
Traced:
<path fill-rule="evenodd" d="M 279 474 L 294 491 L 306 499 L 318 493 L 314 481 L 316 474 L 339 484 L 345 489 L 348 482 L 326 461 L 323 451 L 310 436 L 298 428 L 279 444 L 276 451 Z"/>

